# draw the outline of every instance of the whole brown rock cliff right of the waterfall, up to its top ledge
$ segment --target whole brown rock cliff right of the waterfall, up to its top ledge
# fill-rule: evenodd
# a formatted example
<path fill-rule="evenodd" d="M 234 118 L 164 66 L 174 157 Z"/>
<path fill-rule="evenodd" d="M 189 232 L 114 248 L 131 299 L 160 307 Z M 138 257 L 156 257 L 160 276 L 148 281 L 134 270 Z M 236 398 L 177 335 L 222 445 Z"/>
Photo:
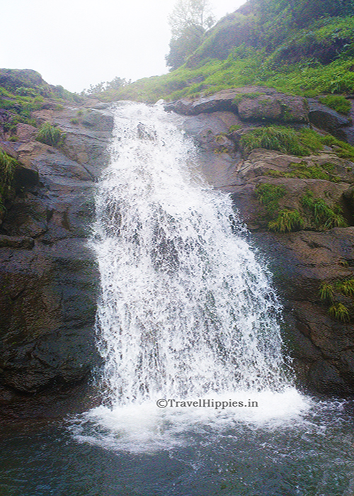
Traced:
<path fill-rule="evenodd" d="M 341 287 L 354 277 L 354 164 L 338 156 L 336 145 L 307 156 L 239 145 L 250 130 L 271 124 L 311 125 L 351 142 L 351 120 L 314 99 L 259 86 L 183 99 L 166 104 L 166 110 L 185 115 L 183 126 L 200 148 L 205 177 L 232 194 L 251 231 L 249 240 L 268 261 L 285 309 L 282 327 L 298 384 L 325 395 L 352 395 L 353 293 Z M 278 192 L 273 203 L 267 203 L 267 191 Z M 326 226 L 314 214 L 321 207 L 333 212 Z M 335 220 L 336 211 L 341 217 Z M 272 219 L 274 225 L 284 212 L 299 214 L 289 229 L 295 232 L 272 232 Z M 341 222 L 347 227 L 336 227 Z M 321 293 L 324 287 L 333 290 L 331 295 Z M 335 315 L 338 305 L 348 315 Z"/>

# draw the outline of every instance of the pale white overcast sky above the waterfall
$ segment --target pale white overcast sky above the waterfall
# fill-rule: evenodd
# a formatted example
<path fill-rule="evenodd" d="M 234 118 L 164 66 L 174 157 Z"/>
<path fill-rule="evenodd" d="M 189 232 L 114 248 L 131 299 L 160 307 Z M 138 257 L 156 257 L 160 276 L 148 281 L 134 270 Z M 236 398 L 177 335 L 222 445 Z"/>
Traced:
<path fill-rule="evenodd" d="M 245 0 L 210 0 L 219 19 Z M 0 0 L 0 67 L 35 69 L 50 84 L 90 84 L 167 72 L 176 0 Z"/>

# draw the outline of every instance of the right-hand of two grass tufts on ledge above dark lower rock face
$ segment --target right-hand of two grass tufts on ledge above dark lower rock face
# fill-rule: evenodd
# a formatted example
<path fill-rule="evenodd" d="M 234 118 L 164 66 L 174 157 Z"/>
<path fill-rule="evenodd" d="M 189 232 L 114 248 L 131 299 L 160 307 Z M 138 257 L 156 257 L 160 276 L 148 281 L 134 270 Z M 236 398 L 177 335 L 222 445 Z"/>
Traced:
<path fill-rule="evenodd" d="M 302 207 L 309 211 L 312 223 L 317 229 L 329 230 L 333 227 L 348 227 L 340 206 L 331 208 L 322 198 L 315 199 L 311 192 L 306 193 L 301 198 L 301 203 Z"/>

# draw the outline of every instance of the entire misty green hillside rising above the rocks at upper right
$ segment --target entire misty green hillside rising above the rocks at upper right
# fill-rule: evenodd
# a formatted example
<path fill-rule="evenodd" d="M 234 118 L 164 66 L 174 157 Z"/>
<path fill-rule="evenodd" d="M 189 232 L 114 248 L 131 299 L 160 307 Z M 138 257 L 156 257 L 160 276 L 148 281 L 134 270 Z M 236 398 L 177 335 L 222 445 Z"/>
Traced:
<path fill-rule="evenodd" d="M 178 69 L 98 96 L 154 103 L 246 85 L 309 97 L 353 94 L 353 13 L 346 0 L 249 0 L 208 30 Z"/>

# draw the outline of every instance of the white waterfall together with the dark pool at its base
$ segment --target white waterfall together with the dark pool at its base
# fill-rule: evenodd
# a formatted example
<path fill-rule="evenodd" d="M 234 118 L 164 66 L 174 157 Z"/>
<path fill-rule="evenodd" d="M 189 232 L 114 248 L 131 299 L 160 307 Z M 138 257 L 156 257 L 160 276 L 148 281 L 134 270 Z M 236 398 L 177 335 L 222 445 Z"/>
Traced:
<path fill-rule="evenodd" d="M 101 406 L 1 426 L 1 496 L 353 496 L 353 402 L 294 387 L 266 264 L 183 118 L 115 119 L 91 238 Z"/>

